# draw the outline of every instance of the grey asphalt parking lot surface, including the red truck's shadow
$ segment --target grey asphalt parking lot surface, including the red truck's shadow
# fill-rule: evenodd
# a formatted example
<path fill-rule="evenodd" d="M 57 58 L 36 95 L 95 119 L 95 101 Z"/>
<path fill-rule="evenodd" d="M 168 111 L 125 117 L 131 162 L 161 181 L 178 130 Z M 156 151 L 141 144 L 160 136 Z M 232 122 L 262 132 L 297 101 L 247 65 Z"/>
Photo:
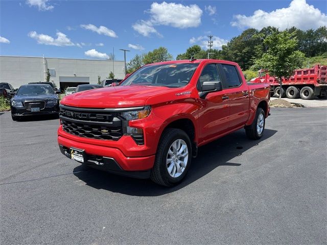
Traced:
<path fill-rule="evenodd" d="M 326 108 L 271 109 L 199 150 L 182 184 L 87 169 L 61 155 L 59 120 L 1 124 L 1 244 L 326 244 Z"/>

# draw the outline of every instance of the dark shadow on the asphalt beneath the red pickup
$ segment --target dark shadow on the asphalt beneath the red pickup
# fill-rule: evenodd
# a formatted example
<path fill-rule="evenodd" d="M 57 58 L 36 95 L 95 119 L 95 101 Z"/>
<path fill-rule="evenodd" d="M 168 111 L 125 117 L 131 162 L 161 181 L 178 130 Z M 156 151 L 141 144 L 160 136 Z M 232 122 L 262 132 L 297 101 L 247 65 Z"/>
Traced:
<path fill-rule="evenodd" d="M 179 185 L 171 188 L 159 186 L 151 180 L 116 176 L 83 165 L 74 168 L 74 175 L 85 182 L 86 185 L 96 189 L 104 189 L 127 195 L 154 197 L 179 190 L 197 181 L 219 166 L 240 166 L 241 163 L 229 161 L 270 138 L 276 132 L 276 130 L 265 129 L 264 136 L 260 140 L 249 140 L 245 135 L 245 131 L 239 130 L 202 146 L 199 148 L 198 157 L 192 159 L 192 165 L 185 179 Z"/>

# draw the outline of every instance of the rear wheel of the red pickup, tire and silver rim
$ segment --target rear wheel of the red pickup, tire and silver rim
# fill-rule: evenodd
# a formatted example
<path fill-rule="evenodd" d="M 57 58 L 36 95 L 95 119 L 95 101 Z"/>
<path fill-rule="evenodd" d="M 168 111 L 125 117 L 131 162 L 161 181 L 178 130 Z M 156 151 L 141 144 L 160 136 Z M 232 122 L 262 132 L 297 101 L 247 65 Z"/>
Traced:
<path fill-rule="evenodd" d="M 265 111 L 262 108 L 256 109 L 252 124 L 245 127 L 246 136 L 250 139 L 260 139 L 264 134 L 265 123 Z"/>

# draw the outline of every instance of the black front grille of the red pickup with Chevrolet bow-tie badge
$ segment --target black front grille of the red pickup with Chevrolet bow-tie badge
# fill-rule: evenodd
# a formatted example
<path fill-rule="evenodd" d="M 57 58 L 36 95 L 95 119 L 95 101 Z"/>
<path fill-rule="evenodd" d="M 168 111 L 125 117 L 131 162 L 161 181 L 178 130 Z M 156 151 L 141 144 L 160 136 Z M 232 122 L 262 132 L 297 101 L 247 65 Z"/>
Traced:
<path fill-rule="evenodd" d="M 80 137 L 119 140 L 123 136 L 116 112 L 60 106 L 59 117 L 64 131 Z"/>

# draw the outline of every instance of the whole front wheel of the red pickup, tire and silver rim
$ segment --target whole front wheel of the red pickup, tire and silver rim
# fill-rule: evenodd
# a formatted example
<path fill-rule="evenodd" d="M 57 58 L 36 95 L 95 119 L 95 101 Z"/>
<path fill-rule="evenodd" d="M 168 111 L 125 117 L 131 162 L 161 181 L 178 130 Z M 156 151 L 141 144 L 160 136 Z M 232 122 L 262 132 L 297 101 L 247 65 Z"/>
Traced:
<path fill-rule="evenodd" d="M 162 133 L 150 178 L 159 185 L 173 186 L 186 175 L 192 158 L 189 136 L 180 129 Z"/>

